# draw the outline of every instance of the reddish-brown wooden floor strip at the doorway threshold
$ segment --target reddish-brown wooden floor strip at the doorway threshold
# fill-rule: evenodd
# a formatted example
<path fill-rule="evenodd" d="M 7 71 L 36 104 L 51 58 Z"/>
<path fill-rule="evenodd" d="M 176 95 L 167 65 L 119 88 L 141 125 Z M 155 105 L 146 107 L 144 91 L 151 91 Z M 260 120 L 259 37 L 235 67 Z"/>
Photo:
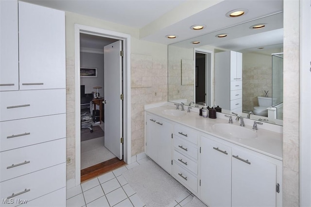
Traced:
<path fill-rule="evenodd" d="M 97 165 L 93 165 L 89 168 L 81 170 L 81 182 L 91 179 L 93 177 L 97 177 L 100 174 L 112 171 L 117 169 L 126 163 L 123 160 L 120 160 L 118 157 L 113 159 L 109 159 Z"/>

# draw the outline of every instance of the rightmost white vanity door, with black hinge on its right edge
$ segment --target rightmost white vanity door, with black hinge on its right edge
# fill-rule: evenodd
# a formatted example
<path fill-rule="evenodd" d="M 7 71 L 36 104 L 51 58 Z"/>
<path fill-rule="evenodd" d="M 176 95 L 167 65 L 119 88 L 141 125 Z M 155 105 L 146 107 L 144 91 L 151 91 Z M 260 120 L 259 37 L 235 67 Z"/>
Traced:
<path fill-rule="evenodd" d="M 232 151 L 232 207 L 275 207 L 276 165 Z"/>

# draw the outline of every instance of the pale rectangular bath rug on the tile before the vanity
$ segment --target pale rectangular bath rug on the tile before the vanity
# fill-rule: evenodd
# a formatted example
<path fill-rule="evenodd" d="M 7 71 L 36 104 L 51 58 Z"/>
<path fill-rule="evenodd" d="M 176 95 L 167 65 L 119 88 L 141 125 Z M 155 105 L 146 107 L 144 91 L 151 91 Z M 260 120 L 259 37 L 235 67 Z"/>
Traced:
<path fill-rule="evenodd" d="M 129 169 L 123 176 L 147 207 L 166 207 L 187 191 L 152 160 Z"/>

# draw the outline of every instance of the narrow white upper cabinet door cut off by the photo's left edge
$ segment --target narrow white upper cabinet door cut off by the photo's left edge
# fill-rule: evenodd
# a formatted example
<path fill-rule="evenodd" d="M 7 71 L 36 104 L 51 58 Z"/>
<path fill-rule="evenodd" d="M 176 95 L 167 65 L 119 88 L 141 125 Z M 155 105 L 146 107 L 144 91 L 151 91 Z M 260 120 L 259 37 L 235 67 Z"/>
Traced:
<path fill-rule="evenodd" d="M 0 0 L 0 91 L 18 90 L 17 0 Z"/>

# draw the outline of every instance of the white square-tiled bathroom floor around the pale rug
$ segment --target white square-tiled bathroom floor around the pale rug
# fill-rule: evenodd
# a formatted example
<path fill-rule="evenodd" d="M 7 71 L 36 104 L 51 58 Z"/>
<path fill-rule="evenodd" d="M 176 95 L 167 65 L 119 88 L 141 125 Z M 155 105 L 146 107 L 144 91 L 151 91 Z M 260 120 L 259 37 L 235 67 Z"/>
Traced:
<path fill-rule="evenodd" d="M 148 158 L 105 173 L 67 190 L 67 207 L 146 207 L 122 175 L 146 159 Z M 182 207 L 192 198 L 193 195 L 187 191 L 172 201 L 168 207 Z"/>

